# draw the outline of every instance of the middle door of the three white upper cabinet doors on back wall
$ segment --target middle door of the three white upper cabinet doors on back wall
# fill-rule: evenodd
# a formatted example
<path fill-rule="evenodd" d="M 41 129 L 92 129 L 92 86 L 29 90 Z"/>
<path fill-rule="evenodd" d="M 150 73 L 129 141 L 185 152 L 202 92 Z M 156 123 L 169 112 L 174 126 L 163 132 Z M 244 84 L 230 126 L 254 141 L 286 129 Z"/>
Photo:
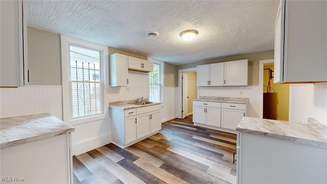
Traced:
<path fill-rule="evenodd" d="M 210 65 L 210 86 L 224 85 L 224 63 L 215 63 Z"/>

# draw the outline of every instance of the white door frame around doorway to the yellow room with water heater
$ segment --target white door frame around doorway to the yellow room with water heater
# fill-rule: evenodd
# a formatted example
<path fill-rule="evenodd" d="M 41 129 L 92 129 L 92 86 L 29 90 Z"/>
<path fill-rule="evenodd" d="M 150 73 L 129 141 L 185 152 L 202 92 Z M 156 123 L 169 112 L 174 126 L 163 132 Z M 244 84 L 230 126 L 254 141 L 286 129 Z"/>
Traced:
<path fill-rule="evenodd" d="M 259 89 L 260 95 L 259 95 L 259 108 L 258 108 L 258 118 L 263 118 L 263 111 L 264 111 L 264 93 L 263 93 L 263 87 L 264 87 L 264 64 L 274 64 L 274 59 L 265 59 L 259 61 Z"/>

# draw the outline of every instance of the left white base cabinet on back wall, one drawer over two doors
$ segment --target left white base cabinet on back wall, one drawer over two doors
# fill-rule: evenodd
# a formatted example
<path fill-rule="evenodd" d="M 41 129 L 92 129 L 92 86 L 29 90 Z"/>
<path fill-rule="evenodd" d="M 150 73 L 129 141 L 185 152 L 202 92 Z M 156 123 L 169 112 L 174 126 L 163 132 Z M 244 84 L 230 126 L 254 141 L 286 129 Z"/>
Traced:
<path fill-rule="evenodd" d="M 220 127 L 220 102 L 193 102 L 193 122 Z"/>

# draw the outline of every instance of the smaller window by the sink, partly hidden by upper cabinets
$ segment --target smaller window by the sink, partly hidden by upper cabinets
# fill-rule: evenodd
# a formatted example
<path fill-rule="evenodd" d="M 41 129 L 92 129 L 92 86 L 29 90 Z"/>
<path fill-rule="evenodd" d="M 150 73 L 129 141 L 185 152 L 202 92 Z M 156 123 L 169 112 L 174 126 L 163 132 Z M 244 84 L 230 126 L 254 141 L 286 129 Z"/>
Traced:
<path fill-rule="evenodd" d="M 161 64 L 153 64 L 153 72 L 149 74 L 150 102 L 161 102 Z"/>

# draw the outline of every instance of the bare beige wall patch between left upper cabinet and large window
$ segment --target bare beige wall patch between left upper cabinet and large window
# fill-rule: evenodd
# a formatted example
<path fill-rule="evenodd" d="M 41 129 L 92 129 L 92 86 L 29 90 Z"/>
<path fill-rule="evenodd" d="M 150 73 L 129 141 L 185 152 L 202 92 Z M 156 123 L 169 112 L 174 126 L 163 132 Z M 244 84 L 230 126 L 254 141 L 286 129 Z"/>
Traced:
<path fill-rule="evenodd" d="M 61 85 L 60 35 L 27 27 L 29 85 Z"/>

